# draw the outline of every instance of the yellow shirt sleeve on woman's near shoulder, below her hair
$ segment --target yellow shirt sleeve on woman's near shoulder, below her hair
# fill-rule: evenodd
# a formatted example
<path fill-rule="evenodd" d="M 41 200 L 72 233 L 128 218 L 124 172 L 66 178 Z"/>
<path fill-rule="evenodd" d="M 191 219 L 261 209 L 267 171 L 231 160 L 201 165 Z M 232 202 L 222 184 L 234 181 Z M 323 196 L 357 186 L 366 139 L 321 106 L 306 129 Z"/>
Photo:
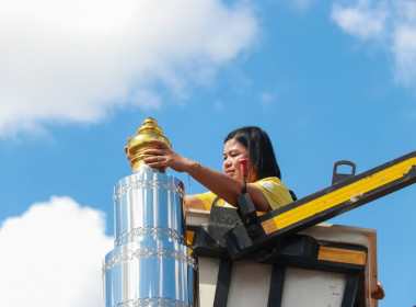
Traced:
<path fill-rule="evenodd" d="M 293 202 L 289 190 L 277 177 L 264 178 L 253 184 L 262 191 L 271 209 L 277 209 Z"/>

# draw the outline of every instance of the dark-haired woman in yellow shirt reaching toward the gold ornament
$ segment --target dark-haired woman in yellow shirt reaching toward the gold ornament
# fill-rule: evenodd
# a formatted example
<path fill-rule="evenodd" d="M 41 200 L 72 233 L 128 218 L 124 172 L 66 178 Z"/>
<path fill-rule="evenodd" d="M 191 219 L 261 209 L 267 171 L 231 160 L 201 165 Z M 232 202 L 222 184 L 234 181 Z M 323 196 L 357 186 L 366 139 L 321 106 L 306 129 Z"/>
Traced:
<path fill-rule="evenodd" d="M 169 149 L 159 140 L 152 140 L 159 149 L 147 149 L 151 155 L 143 161 L 152 168 L 170 167 L 177 172 L 187 172 L 210 192 L 186 196 L 189 208 L 210 209 L 217 195 L 221 198 L 216 205 L 235 206 L 236 196 L 242 194 L 243 174 L 240 159 L 250 159 L 247 193 L 259 212 L 269 212 L 293 200 L 289 190 L 280 182 L 280 170 L 276 162 L 273 146 L 267 134 L 254 126 L 231 132 L 224 141 L 223 173 L 204 167 Z"/>

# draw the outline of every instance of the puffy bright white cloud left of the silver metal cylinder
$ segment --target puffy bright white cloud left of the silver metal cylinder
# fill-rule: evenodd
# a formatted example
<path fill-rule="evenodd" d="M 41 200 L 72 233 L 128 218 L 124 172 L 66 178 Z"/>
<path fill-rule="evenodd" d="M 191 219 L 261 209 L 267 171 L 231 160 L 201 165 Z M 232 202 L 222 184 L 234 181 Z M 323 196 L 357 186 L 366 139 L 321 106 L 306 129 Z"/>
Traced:
<path fill-rule="evenodd" d="M 102 212 L 69 197 L 36 203 L 0 228 L 1 305 L 102 306 L 101 266 L 113 248 Z"/>

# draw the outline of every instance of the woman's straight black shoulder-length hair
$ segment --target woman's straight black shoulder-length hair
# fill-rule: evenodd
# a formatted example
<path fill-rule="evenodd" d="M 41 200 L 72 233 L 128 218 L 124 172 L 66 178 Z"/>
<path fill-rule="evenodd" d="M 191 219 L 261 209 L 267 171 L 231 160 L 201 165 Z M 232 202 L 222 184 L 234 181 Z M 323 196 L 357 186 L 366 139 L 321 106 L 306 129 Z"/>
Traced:
<path fill-rule="evenodd" d="M 235 139 L 247 148 L 250 162 L 257 171 L 257 179 L 267 177 L 281 179 L 275 151 L 266 132 L 255 126 L 242 127 L 231 132 L 224 143 L 229 139 Z"/>

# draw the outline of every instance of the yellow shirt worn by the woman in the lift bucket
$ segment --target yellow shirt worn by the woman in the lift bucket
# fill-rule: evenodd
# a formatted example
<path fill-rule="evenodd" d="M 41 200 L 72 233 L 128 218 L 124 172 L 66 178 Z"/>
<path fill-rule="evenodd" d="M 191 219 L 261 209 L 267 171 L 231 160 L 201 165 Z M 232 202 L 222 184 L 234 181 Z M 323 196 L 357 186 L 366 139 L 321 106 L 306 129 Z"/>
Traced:
<path fill-rule="evenodd" d="M 262 191 L 271 209 L 277 209 L 293 202 L 292 197 L 290 196 L 289 190 L 285 186 L 285 184 L 281 183 L 281 181 L 277 177 L 267 177 L 254 182 L 253 184 L 257 186 L 259 191 Z M 212 202 L 217 197 L 217 195 L 212 192 L 196 194 L 196 196 L 198 196 L 198 198 L 203 202 L 207 211 L 211 209 Z M 234 207 L 226 203 L 226 201 L 221 198 L 218 200 L 216 206 Z"/>

